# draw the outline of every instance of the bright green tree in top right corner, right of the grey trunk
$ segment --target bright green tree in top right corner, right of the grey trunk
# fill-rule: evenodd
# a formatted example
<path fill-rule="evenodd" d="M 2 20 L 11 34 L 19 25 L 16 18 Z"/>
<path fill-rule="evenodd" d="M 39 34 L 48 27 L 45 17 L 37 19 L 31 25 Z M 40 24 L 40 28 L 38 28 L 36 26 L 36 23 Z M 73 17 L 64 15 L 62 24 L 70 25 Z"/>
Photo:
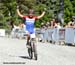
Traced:
<path fill-rule="evenodd" d="M 64 19 L 68 23 L 75 15 L 75 0 L 64 0 Z"/>

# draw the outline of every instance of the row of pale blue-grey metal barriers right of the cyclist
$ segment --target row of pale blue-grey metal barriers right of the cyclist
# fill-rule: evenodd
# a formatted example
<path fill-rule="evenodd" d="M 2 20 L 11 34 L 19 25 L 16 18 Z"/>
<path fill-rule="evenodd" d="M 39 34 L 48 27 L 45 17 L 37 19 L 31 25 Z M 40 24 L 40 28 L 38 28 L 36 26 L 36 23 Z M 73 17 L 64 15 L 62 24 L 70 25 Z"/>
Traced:
<path fill-rule="evenodd" d="M 75 45 L 75 28 L 44 29 L 40 35 L 42 40 L 47 40 L 48 42 L 63 42 L 65 44 Z"/>

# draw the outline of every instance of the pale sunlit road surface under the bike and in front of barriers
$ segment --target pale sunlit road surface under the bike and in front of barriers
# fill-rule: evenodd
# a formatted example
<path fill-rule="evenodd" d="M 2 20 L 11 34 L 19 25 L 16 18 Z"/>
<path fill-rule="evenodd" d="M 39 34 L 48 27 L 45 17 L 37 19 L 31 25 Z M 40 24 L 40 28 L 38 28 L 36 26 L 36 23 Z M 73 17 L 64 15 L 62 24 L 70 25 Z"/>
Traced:
<path fill-rule="evenodd" d="M 25 40 L 0 38 L 0 65 L 75 65 L 75 47 L 37 43 L 38 60 L 28 59 Z"/>

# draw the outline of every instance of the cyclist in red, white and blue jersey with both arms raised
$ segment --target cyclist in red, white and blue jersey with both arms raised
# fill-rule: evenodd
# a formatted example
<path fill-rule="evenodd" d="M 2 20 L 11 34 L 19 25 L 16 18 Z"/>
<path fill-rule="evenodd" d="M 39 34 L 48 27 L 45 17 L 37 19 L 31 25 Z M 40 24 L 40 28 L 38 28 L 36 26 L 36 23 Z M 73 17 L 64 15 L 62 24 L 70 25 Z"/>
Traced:
<path fill-rule="evenodd" d="M 40 19 L 44 16 L 45 11 L 42 12 L 42 14 L 40 16 L 34 16 L 34 11 L 33 9 L 29 9 L 29 13 L 27 16 L 22 15 L 19 11 L 19 7 L 17 7 L 17 13 L 18 15 L 23 18 L 25 20 L 25 25 L 26 25 L 26 34 L 27 34 L 27 47 L 29 47 L 29 39 L 30 37 L 33 38 L 35 40 L 35 30 L 34 30 L 34 22 L 37 19 Z"/>

